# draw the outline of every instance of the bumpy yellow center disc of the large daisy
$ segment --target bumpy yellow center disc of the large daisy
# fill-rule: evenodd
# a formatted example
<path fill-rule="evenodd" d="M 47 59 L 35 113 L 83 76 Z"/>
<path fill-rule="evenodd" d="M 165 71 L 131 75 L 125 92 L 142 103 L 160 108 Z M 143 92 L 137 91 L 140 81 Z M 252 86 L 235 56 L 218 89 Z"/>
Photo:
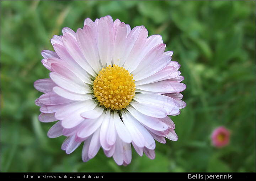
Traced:
<path fill-rule="evenodd" d="M 125 108 L 135 94 L 133 76 L 117 65 L 102 68 L 94 80 L 94 95 L 100 105 L 112 110 Z"/>

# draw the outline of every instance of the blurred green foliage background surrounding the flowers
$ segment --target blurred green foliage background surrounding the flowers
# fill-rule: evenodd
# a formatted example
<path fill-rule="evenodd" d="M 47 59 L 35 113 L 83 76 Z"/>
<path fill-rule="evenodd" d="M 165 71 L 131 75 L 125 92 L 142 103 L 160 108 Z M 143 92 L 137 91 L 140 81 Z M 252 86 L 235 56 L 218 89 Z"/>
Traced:
<path fill-rule="evenodd" d="M 255 1 L 1 1 L 1 172 L 255 172 Z M 118 166 L 100 149 L 82 162 L 54 123 L 38 121 L 33 82 L 48 78 L 41 51 L 63 27 L 111 15 L 160 34 L 181 64 L 186 108 L 171 116 L 177 142 L 156 144 L 156 158 Z M 217 126 L 231 131 L 229 146 L 214 148 Z"/>

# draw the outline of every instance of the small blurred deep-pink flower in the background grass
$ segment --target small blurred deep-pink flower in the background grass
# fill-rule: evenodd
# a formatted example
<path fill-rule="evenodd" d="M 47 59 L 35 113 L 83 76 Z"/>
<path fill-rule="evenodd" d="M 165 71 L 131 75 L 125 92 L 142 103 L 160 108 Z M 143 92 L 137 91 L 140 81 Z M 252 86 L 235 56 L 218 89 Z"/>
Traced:
<path fill-rule="evenodd" d="M 213 130 L 211 138 L 215 147 L 224 147 L 229 143 L 230 132 L 225 127 L 220 126 Z"/>

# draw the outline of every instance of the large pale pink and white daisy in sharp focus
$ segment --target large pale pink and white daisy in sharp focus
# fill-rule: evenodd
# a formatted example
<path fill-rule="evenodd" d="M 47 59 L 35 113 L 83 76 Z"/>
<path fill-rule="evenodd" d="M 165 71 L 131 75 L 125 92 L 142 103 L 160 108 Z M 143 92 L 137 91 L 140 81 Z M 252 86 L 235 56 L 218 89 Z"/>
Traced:
<path fill-rule="evenodd" d="M 186 106 L 186 85 L 160 35 L 148 37 L 144 26 L 131 29 L 111 16 L 62 32 L 51 39 L 55 52 L 42 51 L 50 78 L 34 83 L 44 93 L 36 100 L 39 120 L 58 121 L 48 137 L 66 136 L 67 154 L 84 142 L 83 161 L 102 148 L 118 165 L 131 162 L 131 143 L 154 159 L 155 140 L 178 139 L 168 115 Z"/>

